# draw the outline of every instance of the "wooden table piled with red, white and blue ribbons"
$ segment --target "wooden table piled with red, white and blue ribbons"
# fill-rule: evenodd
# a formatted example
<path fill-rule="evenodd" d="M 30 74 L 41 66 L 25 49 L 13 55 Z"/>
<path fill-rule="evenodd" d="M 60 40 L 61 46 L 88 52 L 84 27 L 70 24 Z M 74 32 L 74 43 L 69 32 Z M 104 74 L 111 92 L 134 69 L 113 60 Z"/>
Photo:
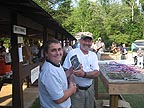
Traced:
<path fill-rule="evenodd" d="M 122 72 L 119 69 L 124 70 L 126 67 L 134 73 Z M 113 64 L 100 64 L 100 78 L 107 93 L 110 95 L 110 108 L 118 108 L 119 95 L 121 94 L 144 94 L 144 75 L 129 66 L 126 67 L 115 67 Z M 114 72 L 114 68 L 118 69 L 119 72 Z"/>

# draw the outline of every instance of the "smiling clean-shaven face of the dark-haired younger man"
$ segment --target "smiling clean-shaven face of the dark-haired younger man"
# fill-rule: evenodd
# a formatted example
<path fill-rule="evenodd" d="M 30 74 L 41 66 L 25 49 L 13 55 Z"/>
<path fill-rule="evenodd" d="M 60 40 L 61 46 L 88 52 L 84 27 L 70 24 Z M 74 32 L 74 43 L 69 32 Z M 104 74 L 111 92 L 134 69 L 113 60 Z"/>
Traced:
<path fill-rule="evenodd" d="M 48 48 L 48 53 L 46 54 L 46 56 L 48 60 L 50 60 L 54 64 L 59 64 L 63 56 L 63 51 L 60 43 L 52 43 Z"/>

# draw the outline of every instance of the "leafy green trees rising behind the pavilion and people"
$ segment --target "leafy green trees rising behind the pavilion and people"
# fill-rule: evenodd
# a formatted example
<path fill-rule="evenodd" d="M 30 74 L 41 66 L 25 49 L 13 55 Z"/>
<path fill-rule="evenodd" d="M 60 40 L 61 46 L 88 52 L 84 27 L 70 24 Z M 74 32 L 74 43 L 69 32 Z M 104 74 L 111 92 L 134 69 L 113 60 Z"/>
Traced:
<path fill-rule="evenodd" d="M 136 39 L 144 39 L 144 12 L 134 0 L 79 0 L 75 7 L 72 0 L 34 0 L 49 12 L 68 32 L 89 31 L 94 41 L 102 37 L 106 47 L 115 41 L 128 46 Z M 140 1 L 144 9 L 143 0 Z M 54 8 L 57 5 L 57 8 Z"/>

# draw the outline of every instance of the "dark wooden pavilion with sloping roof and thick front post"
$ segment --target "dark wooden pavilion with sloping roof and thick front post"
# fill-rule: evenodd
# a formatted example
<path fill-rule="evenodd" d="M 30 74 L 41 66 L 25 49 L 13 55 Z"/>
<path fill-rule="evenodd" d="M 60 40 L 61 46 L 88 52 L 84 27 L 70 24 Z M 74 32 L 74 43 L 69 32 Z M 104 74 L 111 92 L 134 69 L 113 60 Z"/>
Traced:
<path fill-rule="evenodd" d="M 50 38 L 62 42 L 76 40 L 45 10 L 32 0 L 0 0 L 0 37 L 10 38 L 12 78 L 12 106 L 0 108 L 23 108 L 22 85 L 30 71 L 41 65 L 34 63 L 23 66 L 19 62 L 18 37 L 40 39 L 45 43 Z"/>

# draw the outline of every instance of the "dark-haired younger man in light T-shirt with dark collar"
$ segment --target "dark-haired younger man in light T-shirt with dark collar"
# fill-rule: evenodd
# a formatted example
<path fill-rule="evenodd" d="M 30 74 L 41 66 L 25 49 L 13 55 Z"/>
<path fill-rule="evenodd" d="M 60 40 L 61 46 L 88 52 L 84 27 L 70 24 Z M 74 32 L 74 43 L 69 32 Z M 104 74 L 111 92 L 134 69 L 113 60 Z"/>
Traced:
<path fill-rule="evenodd" d="M 56 39 L 49 40 L 43 48 L 45 61 L 38 78 L 41 108 L 70 108 L 70 96 L 76 92 L 76 84 L 67 81 L 73 70 L 65 73 L 60 61 L 63 50 Z"/>

